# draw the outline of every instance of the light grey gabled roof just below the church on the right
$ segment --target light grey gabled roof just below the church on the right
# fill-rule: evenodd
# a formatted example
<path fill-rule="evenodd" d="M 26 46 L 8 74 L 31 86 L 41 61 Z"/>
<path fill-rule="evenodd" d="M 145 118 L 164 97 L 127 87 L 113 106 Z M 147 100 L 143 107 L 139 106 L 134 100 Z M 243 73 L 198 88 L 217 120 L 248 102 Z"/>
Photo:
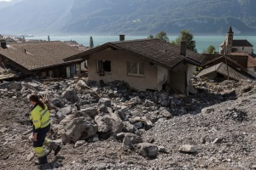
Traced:
<path fill-rule="evenodd" d="M 228 74 L 229 70 L 229 74 Z M 208 74 L 213 72 L 218 72 L 219 74 L 224 75 L 225 77 L 229 77 L 236 81 L 240 81 L 241 79 L 247 79 L 247 77 L 243 76 L 240 72 L 236 71 L 232 67 L 228 67 L 224 63 L 218 63 L 217 65 L 212 65 L 211 67 L 202 70 L 196 77 L 207 77 Z"/>

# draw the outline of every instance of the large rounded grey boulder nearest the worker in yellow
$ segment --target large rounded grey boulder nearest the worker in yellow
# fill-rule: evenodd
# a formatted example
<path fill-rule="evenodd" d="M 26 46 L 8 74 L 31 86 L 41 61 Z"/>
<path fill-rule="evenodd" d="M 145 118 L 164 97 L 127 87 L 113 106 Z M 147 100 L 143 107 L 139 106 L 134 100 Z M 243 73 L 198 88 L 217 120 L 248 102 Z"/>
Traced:
<path fill-rule="evenodd" d="M 65 130 L 67 139 L 72 142 L 77 142 L 96 135 L 98 127 L 90 117 L 81 116 L 69 122 Z"/>

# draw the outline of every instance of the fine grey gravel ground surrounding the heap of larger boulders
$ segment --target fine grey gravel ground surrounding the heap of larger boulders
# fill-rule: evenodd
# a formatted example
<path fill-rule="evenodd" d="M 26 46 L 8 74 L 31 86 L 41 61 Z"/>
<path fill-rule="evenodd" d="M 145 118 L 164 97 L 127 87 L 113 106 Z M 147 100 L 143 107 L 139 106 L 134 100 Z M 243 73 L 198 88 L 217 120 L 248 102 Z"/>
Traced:
<path fill-rule="evenodd" d="M 32 142 L 29 135 L 23 135 L 31 128 L 26 96 L 2 95 L 0 169 L 256 169 L 256 94 L 254 82 L 246 83 L 250 89 L 244 83 L 195 84 L 199 93 L 189 99 L 199 101 L 198 108 L 170 119 L 160 118 L 149 130 L 140 131 L 143 141 L 166 149 L 154 159 L 141 156 L 138 150 L 123 150 L 122 143 L 111 136 L 79 148 L 62 145 L 60 154 L 50 154 L 49 164 L 44 166 L 35 166 L 36 158 L 27 160 Z M 207 98 L 205 91 L 212 95 Z M 232 92 L 237 99 L 233 95 L 225 99 Z M 197 152 L 178 151 L 183 144 L 194 145 Z"/>

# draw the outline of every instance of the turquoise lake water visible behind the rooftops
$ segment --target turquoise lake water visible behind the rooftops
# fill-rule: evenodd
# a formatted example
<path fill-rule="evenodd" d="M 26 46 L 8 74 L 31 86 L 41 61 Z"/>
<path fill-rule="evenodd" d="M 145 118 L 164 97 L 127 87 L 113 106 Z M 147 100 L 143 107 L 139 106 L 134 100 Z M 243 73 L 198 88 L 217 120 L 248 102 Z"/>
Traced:
<path fill-rule="evenodd" d="M 175 40 L 177 36 L 168 36 L 170 41 Z M 51 41 L 70 41 L 74 40 L 83 44 L 84 46 L 89 46 L 90 44 L 90 36 L 50 36 Z M 102 45 L 106 42 L 115 42 L 119 41 L 119 36 L 92 36 L 94 45 Z M 143 39 L 147 38 L 147 36 L 125 36 L 125 40 L 135 40 L 135 39 Z M 41 37 L 26 37 L 26 39 L 41 39 L 48 40 L 47 36 Z M 224 42 L 224 36 L 194 36 L 196 42 L 196 49 L 199 53 L 201 53 L 204 49 L 208 48 L 209 45 L 213 45 L 218 51 L 218 46 L 222 42 Z M 247 39 L 248 42 L 253 44 L 253 47 L 256 47 L 256 36 L 234 36 L 234 39 Z"/>

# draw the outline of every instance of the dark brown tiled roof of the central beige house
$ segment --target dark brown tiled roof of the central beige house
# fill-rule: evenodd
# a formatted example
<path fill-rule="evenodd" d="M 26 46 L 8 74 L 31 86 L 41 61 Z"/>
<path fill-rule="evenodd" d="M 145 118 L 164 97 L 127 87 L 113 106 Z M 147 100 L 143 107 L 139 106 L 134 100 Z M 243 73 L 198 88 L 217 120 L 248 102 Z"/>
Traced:
<path fill-rule="evenodd" d="M 154 64 L 172 68 L 182 61 L 193 65 L 200 65 L 204 56 L 191 50 L 186 51 L 186 56 L 180 54 L 180 47 L 160 39 L 141 39 L 131 41 L 108 42 L 99 47 L 92 48 L 76 56 L 64 59 L 81 59 L 106 48 L 124 50 L 127 53 L 147 59 Z"/>

